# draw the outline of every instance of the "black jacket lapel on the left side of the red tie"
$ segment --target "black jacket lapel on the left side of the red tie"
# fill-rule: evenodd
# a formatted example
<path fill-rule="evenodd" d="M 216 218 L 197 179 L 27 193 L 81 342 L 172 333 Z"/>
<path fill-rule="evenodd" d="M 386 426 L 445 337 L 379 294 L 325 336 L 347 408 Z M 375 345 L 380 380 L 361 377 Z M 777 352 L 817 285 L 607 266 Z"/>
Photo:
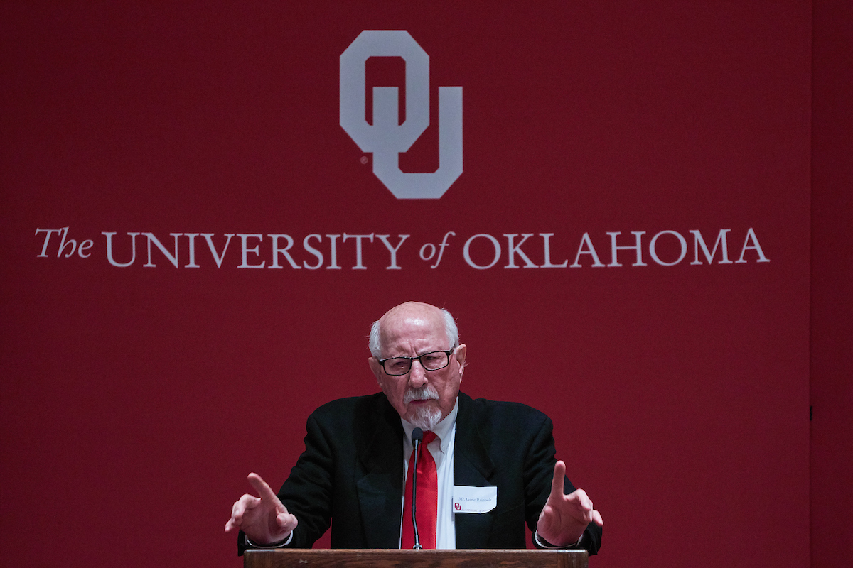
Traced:
<path fill-rule="evenodd" d="M 403 508 L 403 425 L 383 395 L 375 406 L 373 437 L 359 456 L 356 481 L 367 548 L 399 548 Z"/>

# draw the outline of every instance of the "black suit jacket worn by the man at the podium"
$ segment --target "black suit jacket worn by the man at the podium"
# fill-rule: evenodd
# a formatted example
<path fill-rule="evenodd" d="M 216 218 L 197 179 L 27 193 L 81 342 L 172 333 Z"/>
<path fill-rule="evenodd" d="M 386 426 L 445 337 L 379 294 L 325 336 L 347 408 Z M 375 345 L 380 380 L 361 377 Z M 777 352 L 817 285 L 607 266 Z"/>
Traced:
<path fill-rule="evenodd" d="M 324 404 L 306 431 L 305 452 L 278 494 L 299 519 L 289 546 L 310 548 L 331 523 L 332 548 L 398 548 L 403 425 L 385 394 Z M 496 486 L 497 506 L 456 513 L 456 548 L 525 548 L 524 524 L 535 530 L 555 462 L 548 416 L 460 393 L 454 485 Z M 565 491 L 574 491 L 568 479 Z M 595 554 L 601 528 L 589 525 L 582 545 Z"/>

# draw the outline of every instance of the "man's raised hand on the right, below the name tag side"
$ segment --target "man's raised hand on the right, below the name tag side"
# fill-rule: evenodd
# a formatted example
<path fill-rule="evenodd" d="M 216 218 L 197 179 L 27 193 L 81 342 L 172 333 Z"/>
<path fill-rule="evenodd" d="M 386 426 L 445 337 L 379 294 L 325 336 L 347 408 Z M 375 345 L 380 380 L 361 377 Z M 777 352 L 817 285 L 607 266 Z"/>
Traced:
<path fill-rule="evenodd" d="M 554 465 L 554 479 L 548 502 L 539 513 L 537 534 L 558 547 L 572 546 L 583 535 L 589 523 L 604 525 L 601 513 L 592 506 L 592 501 L 583 489 L 563 495 L 563 480 L 566 479 L 566 464 Z"/>

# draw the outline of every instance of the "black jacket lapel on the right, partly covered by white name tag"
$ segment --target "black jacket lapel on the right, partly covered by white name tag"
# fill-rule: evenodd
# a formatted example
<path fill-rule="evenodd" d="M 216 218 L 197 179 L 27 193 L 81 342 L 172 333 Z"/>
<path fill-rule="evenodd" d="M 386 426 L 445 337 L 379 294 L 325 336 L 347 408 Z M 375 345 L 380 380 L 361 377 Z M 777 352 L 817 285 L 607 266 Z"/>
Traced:
<path fill-rule="evenodd" d="M 479 433 L 479 416 L 473 400 L 459 393 L 456 415 L 456 449 L 453 454 L 453 484 L 488 487 L 495 464 Z M 500 496 L 498 496 L 500 499 Z M 490 514 L 456 513 L 456 548 L 487 548 L 491 532 Z"/>

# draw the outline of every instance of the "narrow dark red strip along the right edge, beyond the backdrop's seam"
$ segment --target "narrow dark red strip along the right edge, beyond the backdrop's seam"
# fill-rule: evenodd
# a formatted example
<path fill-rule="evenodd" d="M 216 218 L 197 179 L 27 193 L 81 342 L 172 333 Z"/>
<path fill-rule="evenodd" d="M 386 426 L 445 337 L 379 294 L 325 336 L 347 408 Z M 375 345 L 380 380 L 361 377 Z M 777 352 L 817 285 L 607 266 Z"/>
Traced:
<path fill-rule="evenodd" d="M 853 558 L 853 4 L 814 8 L 811 561 L 828 568 Z"/>

